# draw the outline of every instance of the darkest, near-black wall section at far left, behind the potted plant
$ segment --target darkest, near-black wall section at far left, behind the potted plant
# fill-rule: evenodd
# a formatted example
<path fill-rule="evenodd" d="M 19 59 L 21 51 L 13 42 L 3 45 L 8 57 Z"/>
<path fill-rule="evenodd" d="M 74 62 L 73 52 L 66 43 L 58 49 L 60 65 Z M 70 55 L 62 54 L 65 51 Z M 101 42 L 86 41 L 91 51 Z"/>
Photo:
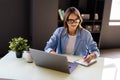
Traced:
<path fill-rule="evenodd" d="M 29 0 L 0 0 L 0 57 L 13 37 L 29 38 Z"/>

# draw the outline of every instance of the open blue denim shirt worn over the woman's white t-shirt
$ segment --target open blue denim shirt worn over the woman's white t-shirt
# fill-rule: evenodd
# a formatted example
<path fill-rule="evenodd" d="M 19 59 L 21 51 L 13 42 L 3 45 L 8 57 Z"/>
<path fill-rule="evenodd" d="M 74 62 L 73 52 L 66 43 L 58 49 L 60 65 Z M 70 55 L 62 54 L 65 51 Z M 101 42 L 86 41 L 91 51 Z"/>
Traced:
<path fill-rule="evenodd" d="M 54 50 L 59 54 L 65 54 L 67 42 L 67 29 L 64 29 L 64 27 L 59 27 L 55 30 L 55 32 L 47 42 L 44 50 L 48 53 L 51 50 Z M 84 28 L 82 30 L 77 29 L 74 55 L 85 56 L 86 48 L 89 49 L 90 53 L 95 53 L 96 56 L 100 55 L 97 44 L 95 41 L 93 41 L 91 33 Z"/>

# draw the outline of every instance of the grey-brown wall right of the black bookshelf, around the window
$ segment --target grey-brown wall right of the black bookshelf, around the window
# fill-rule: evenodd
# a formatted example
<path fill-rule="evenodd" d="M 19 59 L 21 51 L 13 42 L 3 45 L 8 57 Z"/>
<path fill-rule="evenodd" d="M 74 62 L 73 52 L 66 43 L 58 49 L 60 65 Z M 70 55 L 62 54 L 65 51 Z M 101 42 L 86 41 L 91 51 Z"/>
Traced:
<path fill-rule="evenodd" d="M 120 48 L 120 26 L 109 26 L 112 0 L 105 0 L 100 48 Z"/>

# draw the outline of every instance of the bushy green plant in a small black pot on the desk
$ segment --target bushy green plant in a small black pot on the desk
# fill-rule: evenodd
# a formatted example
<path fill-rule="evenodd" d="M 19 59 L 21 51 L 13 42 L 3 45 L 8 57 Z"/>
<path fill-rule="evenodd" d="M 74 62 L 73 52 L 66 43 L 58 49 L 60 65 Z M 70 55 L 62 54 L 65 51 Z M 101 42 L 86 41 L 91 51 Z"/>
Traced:
<path fill-rule="evenodd" d="M 16 52 L 16 57 L 21 58 L 23 51 L 28 51 L 29 50 L 29 45 L 28 45 L 28 40 L 24 39 L 22 37 L 18 38 L 12 38 L 12 40 L 9 42 L 9 48 L 12 51 Z"/>

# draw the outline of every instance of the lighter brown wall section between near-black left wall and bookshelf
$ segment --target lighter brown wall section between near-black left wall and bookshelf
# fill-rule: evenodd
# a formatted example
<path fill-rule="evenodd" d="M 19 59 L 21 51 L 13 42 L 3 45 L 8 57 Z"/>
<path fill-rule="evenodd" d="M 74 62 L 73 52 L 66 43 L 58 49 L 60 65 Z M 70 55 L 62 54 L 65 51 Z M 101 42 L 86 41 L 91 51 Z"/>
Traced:
<path fill-rule="evenodd" d="M 32 0 L 32 48 L 43 50 L 57 28 L 58 0 Z"/>

